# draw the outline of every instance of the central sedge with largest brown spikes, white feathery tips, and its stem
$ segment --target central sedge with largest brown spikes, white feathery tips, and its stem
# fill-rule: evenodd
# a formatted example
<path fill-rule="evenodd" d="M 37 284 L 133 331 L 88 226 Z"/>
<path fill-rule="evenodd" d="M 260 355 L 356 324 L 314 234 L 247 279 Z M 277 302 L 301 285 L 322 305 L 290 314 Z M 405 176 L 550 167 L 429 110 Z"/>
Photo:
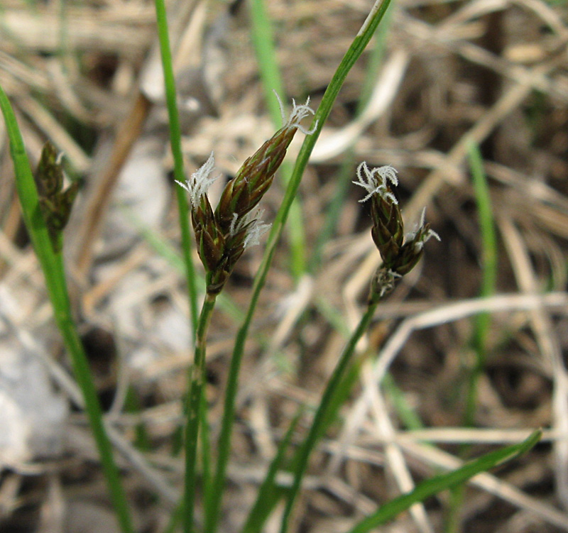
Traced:
<path fill-rule="evenodd" d="M 256 153 L 248 158 L 236 176 L 223 189 L 213 211 L 207 189 L 217 179 L 213 154 L 185 183 L 178 185 L 190 194 L 191 220 L 197 243 L 197 253 L 205 269 L 205 297 L 195 335 L 195 354 L 188 385 L 187 421 L 185 431 L 184 528 L 193 529 L 195 486 L 197 482 L 197 442 L 202 416 L 202 393 L 205 382 L 205 352 L 207 331 L 215 300 L 223 290 L 236 262 L 246 248 L 258 244 L 258 239 L 270 226 L 263 224 L 263 211 L 258 203 L 271 186 L 286 150 L 298 129 L 310 135 L 300 121 L 314 111 L 309 99 L 303 105 L 293 103 L 288 120 Z"/>

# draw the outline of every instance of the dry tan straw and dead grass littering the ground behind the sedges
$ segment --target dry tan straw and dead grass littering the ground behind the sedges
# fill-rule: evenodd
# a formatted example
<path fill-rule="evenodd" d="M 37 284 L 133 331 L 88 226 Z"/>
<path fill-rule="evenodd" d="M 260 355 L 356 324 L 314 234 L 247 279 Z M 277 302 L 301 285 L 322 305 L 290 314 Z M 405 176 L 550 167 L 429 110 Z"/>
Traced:
<path fill-rule="evenodd" d="M 310 94 L 317 107 L 370 4 L 268 2 L 288 95 L 300 101 Z M 225 178 L 273 133 L 248 7 L 192 0 L 170 2 L 168 10 L 187 176 L 214 150 L 224 175 L 209 191 L 217 204 Z M 568 531 L 567 17 L 562 1 L 401 0 L 359 114 L 371 50 L 346 80 L 302 180 L 307 249 L 345 160 L 354 161 L 349 180 L 363 160 L 396 167 L 408 227 L 426 205 L 441 241 L 425 247 L 420 275 L 408 275 L 378 307 L 361 346 L 359 383 L 312 463 L 297 530 L 345 531 L 416 480 L 455 467 L 464 449 L 477 454 L 544 427 L 535 451 L 468 485 L 459 530 Z M 143 237 L 149 229 L 178 247 L 153 4 L 86 0 L 61 11 L 56 1 L 7 0 L 0 21 L 0 84 L 34 163 L 49 139 L 82 179 L 65 230 L 77 317 L 138 524 L 163 531 L 182 478 L 173 443 L 191 354 L 182 275 Z M 3 123 L 0 133 L 0 376 L 2 354 L 18 346 L 43 361 L 60 395 L 80 405 L 21 231 Z M 481 147 L 498 233 L 496 290 L 482 300 L 469 141 Z M 290 145 L 290 155 L 297 147 Z M 124 185 L 129 165 L 140 172 L 136 194 Z M 357 189 L 344 200 L 323 266 L 294 280 L 288 243 L 278 250 L 244 361 L 226 532 L 239 531 L 244 504 L 290 418 L 300 403 L 317 402 L 364 305 L 380 258 Z M 265 219 L 282 194 L 278 183 L 266 194 Z M 236 309 L 248 304 L 261 253 L 246 251 L 227 282 Z M 224 309 L 209 340 L 213 435 L 239 325 Z M 466 427 L 464 390 L 476 364 L 471 336 L 482 312 L 490 317 L 486 361 Z M 378 386 L 387 373 L 391 385 Z M 412 418 L 401 414 L 400 398 Z M 2 531 L 111 531 L 84 418 L 72 415 L 68 427 L 65 453 L 23 462 L 0 449 Z M 289 482 L 285 475 L 282 482 Z M 384 530 L 441 532 L 447 505 L 440 495 Z M 88 518 L 93 513 L 99 528 Z"/>

